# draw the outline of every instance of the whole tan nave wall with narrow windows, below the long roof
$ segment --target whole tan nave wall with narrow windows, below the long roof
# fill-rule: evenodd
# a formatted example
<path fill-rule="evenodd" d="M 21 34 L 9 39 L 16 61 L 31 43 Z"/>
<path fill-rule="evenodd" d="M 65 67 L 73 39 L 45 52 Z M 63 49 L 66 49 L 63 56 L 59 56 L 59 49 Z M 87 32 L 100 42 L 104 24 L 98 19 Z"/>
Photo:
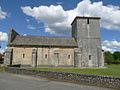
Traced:
<path fill-rule="evenodd" d="M 74 66 L 74 48 L 10 47 L 13 49 L 12 65 L 32 65 L 32 50 L 37 50 L 37 66 Z M 56 56 L 58 55 L 58 56 Z M 70 56 L 69 56 L 70 55 Z"/>

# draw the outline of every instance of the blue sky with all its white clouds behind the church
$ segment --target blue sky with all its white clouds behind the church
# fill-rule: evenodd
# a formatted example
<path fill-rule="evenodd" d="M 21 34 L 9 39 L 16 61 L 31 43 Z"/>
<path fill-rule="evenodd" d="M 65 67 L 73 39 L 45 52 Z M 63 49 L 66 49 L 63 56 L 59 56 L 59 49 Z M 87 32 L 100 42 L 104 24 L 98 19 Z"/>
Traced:
<path fill-rule="evenodd" d="M 119 0 L 0 0 L 0 51 L 9 28 L 22 35 L 70 37 L 75 16 L 101 17 L 102 48 L 120 51 Z"/>

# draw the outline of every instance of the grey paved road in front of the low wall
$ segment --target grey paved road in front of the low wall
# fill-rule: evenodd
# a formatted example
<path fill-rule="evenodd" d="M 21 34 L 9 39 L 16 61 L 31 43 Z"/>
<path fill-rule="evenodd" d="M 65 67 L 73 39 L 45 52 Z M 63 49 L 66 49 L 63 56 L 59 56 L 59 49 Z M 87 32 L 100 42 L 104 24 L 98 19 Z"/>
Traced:
<path fill-rule="evenodd" d="M 0 90 L 112 90 L 0 72 Z"/>

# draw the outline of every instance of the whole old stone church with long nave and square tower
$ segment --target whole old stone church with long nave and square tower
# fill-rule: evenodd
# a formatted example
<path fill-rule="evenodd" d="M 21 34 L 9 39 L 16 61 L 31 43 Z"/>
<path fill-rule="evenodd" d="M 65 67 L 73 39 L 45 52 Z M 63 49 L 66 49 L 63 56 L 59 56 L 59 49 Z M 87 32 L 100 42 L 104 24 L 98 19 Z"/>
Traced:
<path fill-rule="evenodd" d="M 23 36 L 11 29 L 5 66 L 103 67 L 99 17 L 75 17 L 72 36 Z"/>

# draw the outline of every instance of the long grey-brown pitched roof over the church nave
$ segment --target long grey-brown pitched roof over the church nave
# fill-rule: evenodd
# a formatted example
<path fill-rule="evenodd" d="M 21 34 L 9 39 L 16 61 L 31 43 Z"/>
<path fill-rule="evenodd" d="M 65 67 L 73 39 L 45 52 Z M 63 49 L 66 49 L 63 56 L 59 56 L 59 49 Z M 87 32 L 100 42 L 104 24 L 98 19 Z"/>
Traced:
<path fill-rule="evenodd" d="M 46 37 L 46 36 L 20 36 L 20 35 L 17 35 L 9 45 L 77 47 L 77 43 L 74 38 Z"/>

